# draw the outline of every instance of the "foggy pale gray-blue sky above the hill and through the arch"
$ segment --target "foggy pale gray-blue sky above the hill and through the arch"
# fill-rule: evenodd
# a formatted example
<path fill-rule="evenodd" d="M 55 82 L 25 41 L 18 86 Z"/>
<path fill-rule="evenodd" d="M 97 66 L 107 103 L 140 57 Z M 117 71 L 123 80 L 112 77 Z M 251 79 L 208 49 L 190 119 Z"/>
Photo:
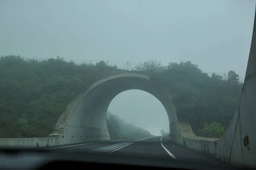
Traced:
<path fill-rule="evenodd" d="M 255 0 L 0 0 L 0 55 L 123 68 L 157 59 L 192 61 L 203 72 L 234 70 L 243 81 Z M 166 111 L 147 92 L 130 90 L 108 109 L 159 135 Z"/>

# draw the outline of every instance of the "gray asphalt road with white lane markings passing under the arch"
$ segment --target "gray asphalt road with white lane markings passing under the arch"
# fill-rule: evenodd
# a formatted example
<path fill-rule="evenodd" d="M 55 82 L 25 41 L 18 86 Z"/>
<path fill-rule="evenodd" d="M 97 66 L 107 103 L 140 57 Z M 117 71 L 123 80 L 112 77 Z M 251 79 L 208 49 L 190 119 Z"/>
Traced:
<path fill-rule="evenodd" d="M 170 141 L 169 136 L 156 136 L 139 139 L 133 138 L 117 141 L 100 141 L 50 148 L 49 150 L 136 155 L 164 159 L 183 159 L 187 161 L 198 161 L 204 163 L 209 162 L 210 164 L 225 164 L 216 158 L 202 155 L 201 153 L 178 145 Z"/>

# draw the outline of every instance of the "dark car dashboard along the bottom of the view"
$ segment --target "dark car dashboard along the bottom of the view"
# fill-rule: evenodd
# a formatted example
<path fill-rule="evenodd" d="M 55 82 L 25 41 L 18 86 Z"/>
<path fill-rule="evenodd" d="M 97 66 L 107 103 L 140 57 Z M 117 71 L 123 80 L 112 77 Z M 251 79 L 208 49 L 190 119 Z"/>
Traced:
<path fill-rule="evenodd" d="M 106 153 L 64 152 L 42 149 L 0 149 L 0 170 L 48 170 L 81 168 L 146 168 L 234 170 L 238 167 L 221 166 L 204 162 L 182 161 L 157 157 L 115 155 Z"/>

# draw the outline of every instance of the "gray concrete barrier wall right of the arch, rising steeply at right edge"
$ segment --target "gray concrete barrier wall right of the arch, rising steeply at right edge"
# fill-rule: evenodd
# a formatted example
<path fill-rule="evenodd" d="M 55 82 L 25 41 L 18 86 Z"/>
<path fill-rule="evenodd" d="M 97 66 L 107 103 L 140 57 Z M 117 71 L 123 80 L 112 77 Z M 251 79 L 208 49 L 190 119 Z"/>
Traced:
<path fill-rule="evenodd" d="M 171 121 L 172 141 L 230 164 L 256 167 L 256 20 L 239 107 L 225 134 L 219 139 L 203 138 L 189 124 Z M 244 146 L 247 136 L 249 144 Z"/>

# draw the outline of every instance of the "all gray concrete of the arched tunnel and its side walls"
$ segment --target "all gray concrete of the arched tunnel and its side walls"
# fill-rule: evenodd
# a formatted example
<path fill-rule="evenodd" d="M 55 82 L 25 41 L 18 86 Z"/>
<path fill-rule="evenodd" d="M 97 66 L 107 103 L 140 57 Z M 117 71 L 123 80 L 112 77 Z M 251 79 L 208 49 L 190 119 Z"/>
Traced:
<path fill-rule="evenodd" d="M 255 25 L 255 21 L 254 21 Z M 230 164 L 256 167 L 256 27 L 250 49 L 247 72 L 238 110 L 221 138 L 196 136 L 190 125 L 178 122 L 171 96 L 153 84 L 151 77 L 136 73 L 113 75 L 96 81 L 78 95 L 60 116 L 53 132 L 46 138 L 1 138 L 0 146 L 46 147 L 110 140 L 106 112 L 112 99 L 129 89 L 154 95 L 169 117 L 171 141 L 213 156 Z M 244 146 L 244 137 L 249 144 Z"/>

